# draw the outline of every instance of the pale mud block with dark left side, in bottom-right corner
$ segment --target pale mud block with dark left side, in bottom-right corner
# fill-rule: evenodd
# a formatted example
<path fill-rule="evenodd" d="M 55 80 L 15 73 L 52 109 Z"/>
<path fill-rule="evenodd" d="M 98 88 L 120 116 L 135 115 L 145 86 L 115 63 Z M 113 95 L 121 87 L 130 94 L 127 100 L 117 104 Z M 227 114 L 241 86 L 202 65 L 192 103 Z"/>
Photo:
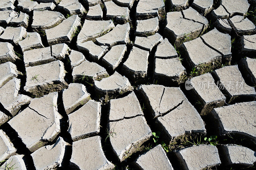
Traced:
<path fill-rule="evenodd" d="M 252 166 L 256 161 L 256 152 L 240 145 L 220 145 L 220 149 L 227 162 L 226 165 Z"/>

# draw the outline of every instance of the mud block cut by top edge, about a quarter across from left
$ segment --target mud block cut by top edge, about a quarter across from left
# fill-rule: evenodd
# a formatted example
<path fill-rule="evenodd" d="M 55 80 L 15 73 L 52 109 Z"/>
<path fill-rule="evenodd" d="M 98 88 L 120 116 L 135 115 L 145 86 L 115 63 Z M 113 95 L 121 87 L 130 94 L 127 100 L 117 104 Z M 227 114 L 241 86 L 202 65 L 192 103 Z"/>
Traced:
<path fill-rule="evenodd" d="M 86 11 L 84 6 L 80 4 L 78 0 L 61 0 L 57 7 L 70 15 L 83 15 Z"/>

